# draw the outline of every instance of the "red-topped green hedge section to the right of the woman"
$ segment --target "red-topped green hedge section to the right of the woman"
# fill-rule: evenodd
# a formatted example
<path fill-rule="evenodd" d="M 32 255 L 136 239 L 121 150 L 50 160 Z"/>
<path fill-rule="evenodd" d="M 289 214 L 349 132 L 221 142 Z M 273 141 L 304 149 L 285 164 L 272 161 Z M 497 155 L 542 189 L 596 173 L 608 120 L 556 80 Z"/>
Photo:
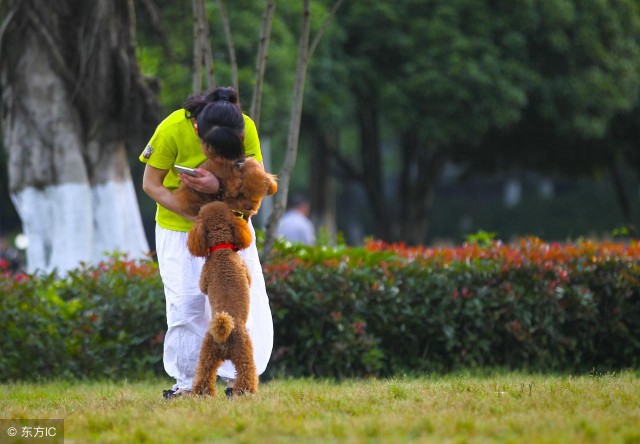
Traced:
<path fill-rule="evenodd" d="M 295 256 L 295 259 L 292 259 Z M 640 246 L 292 248 L 265 266 L 274 374 L 638 368 Z"/>

